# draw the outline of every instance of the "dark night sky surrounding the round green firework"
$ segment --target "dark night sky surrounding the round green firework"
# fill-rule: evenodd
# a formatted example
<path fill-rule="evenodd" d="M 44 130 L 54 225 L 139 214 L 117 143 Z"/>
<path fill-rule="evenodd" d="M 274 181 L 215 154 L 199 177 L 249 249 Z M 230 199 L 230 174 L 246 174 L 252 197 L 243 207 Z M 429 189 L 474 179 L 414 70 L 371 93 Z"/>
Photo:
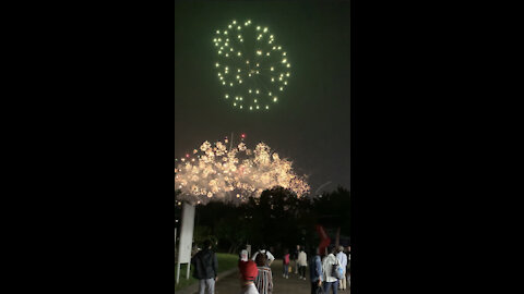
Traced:
<path fill-rule="evenodd" d="M 349 188 L 349 1 L 176 1 L 175 157 L 246 133 L 309 175 Z M 267 26 L 291 63 L 288 87 L 266 112 L 223 99 L 213 37 L 229 22 Z"/>

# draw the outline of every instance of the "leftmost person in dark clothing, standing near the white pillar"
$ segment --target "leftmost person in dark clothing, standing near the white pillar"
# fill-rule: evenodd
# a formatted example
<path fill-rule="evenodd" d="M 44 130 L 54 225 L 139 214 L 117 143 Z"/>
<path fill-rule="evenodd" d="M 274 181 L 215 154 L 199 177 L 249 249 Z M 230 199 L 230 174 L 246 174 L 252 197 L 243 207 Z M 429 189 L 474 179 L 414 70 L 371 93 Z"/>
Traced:
<path fill-rule="evenodd" d="M 199 294 L 215 293 L 216 275 L 218 273 L 218 260 L 216 254 L 211 249 L 211 241 L 204 242 L 204 248 L 191 258 L 194 268 L 193 277 L 199 280 Z"/>

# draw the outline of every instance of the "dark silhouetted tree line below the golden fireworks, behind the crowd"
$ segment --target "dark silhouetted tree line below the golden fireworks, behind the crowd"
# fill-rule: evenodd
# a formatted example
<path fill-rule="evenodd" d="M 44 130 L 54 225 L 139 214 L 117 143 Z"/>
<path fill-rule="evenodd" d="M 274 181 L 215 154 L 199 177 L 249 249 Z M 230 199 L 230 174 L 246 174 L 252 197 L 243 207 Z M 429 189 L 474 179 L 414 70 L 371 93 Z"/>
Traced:
<path fill-rule="evenodd" d="M 196 244 L 212 240 L 217 250 L 224 253 L 238 253 L 246 244 L 253 249 L 261 245 L 273 247 L 276 255 L 296 245 L 317 246 L 320 242 L 317 224 L 349 236 L 349 199 L 350 194 L 344 187 L 300 198 L 288 189 L 274 187 L 262 192 L 260 198 L 251 197 L 239 205 L 222 201 L 198 205 L 193 240 Z M 181 207 L 175 208 L 179 225 Z"/>

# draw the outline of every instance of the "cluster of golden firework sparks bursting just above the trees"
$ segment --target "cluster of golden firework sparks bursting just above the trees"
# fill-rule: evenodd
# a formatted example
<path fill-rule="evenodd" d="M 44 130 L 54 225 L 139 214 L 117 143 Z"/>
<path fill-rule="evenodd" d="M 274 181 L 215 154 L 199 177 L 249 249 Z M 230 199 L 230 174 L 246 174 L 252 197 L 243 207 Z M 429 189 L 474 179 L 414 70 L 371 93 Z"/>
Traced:
<path fill-rule="evenodd" d="M 226 146 L 227 142 L 204 142 L 200 151 L 193 150 L 191 160 L 180 159 L 182 163 L 175 169 L 180 199 L 193 204 L 238 201 L 260 197 L 262 191 L 275 186 L 288 188 L 298 197 L 309 193 L 306 179 L 294 172 L 293 162 L 281 159 L 266 144 L 259 143 L 254 149 L 243 142 L 230 150 Z"/>

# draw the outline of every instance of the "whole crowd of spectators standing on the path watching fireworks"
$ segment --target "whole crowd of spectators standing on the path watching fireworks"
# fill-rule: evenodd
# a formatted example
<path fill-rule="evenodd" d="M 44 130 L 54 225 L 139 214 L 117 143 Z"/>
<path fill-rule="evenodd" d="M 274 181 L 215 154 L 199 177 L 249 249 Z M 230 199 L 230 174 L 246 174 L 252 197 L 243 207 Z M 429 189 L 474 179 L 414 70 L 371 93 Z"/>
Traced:
<path fill-rule="evenodd" d="M 255 252 L 251 258 L 249 258 L 248 250 L 242 249 L 238 261 L 240 293 L 272 294 L 273 272 L 271 265 L 274 260 L 273 254 L 264 246 Z M 199 294 L 214 294 L 217 280 L 217 260 L 216 255 L 211 249 L 211 242 L 206 241 L 204 243 L 204 248 L 193 256 L 191 264 L 194 267 L 193 277 L 200 282 Z M 289 274 L 295 270 L 299 280 L 307 280 L 308 267 L 311 294 L 329 294 L 331 292 L 337 294 L 338 290 L 345 291 L 350 287 L 349 246 L 335 247 L 331 245 L 323 253 L 320 253 L 319 248 L 315 247 L 309 250 L 309 258 L 303 246 L 297 245 L 291 254 L 288 249 L 284 249 L 282 273 L 284 279 L 289 279 Z"/>

